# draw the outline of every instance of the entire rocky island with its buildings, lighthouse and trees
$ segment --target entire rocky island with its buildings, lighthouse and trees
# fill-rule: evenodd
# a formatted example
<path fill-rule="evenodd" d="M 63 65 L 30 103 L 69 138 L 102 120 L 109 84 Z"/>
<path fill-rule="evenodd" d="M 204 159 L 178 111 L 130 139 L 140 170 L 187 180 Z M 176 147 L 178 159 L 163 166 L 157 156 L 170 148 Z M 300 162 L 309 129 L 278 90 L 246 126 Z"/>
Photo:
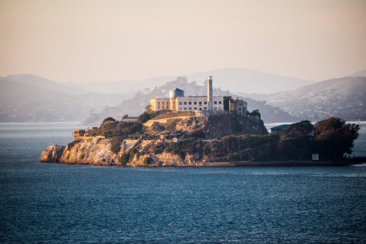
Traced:
<path fill-rule="evenodd" d="M 133 167 L 335 165 L 351 159 L 359 125 L 329 117 L 315 124 L 303 120 L 272 128 L 247 102 L 214 96 L 212 76 L 207 96 L 151 98 L 138 117 L 104 119 L 100 127 L 75 130 L 67 146 L 49 146 L 40 162 Z"/>

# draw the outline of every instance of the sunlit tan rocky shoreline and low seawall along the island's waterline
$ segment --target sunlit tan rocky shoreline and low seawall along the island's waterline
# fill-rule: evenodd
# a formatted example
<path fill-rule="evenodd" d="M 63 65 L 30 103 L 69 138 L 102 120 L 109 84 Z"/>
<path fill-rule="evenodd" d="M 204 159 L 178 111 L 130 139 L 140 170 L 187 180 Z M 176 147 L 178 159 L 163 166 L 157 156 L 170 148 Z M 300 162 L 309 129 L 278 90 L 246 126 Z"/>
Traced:
<path fill-rule="evenodd" d="M 127 165 L 121 165 L 119 158 L 121 154 L 114 154 L 109 150 L 107 140 L 89 139 L 79 142 L 73 147 L 70 146 L 49 146 L 41 154 L 40 162 L 77 164 L 77 165 L 96 165 L 96 166 L 129 166 L 129 167 L 248 167 L 248 166 L 335 166 L 362 164 L 361 161 L 231 161 L 231 162 L 208 162 L 197 160 L 195 155 L 186 155 L 182 160 L 178 155 L 160 154 L 152 157 L 153 163 L 145 164 L 149 155 L 135 157 Z M 107 143 L 107 144 L 106 144 Z M 108 146 L 109 145 L 109 146 Z M 122 149 L 123 151 L 123 149 Z M 151 158 L 151 157 L 150 157 Z"/>

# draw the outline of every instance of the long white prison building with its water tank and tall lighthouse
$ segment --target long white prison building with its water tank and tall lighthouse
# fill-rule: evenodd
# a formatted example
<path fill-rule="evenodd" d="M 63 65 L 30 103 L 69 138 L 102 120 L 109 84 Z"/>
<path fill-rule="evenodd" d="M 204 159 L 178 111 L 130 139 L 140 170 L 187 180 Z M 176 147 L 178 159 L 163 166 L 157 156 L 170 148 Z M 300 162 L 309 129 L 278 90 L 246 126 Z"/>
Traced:
<path fill-rule="evenodd" d="M 154 111 L 169 109 L 172 111 L 208 110 L 221 112 L 224 110 L 224 97 L 212 95 L 212 76 L 207 79 L 207 96 L 184 97 L 184 91 L 178 88 L 169 91 L 168 98 L 150 98 Z"/>

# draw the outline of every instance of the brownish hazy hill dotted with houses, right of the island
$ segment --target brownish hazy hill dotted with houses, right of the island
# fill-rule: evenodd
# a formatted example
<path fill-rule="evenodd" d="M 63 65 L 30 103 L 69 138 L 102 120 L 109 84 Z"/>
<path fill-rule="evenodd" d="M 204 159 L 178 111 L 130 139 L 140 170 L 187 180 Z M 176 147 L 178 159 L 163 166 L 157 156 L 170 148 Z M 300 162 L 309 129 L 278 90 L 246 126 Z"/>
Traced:
<path fill-rule="evenodd" d="M 366 119 L 366 77 L 330 79 L 292 91 L 248 96 L 278 106 L 300 120 L 319 121 L 330 116 Z"/>

